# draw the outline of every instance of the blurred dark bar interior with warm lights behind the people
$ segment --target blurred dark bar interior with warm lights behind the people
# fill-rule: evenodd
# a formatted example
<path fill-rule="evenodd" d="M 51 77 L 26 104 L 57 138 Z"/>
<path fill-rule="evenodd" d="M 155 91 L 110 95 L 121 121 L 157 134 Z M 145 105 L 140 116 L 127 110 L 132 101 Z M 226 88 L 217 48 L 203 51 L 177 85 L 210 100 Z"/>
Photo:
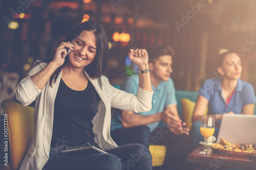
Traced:
<path fill-rule="evenodd" d="M 174 50 L 170 77 L 178 111 L 184 112 L 180 100 L 186 96 L 180 95 L 182 91 L 197 92 L 206 79 L 221 78 L 216 66 L 221 49 L 238 54 L 241 79 L 255 91 L 255 7 L 254 0 L 2 0 L 0 103 L 17 102 L 14 89 L 33 63 L 53 57 L 68 33 L 88 20 L 102 26 L 108 36 L 108 64 L 103 75 L 114 87 L 122 88 L 131 75 L 138 74 L 138 66 L 127 56 L 130 49 L 147 50 L 163 44 Z M 2 107 L 0 116 L 4 116 Z M 0 149 L 2 156 L 4 149 Z"/>

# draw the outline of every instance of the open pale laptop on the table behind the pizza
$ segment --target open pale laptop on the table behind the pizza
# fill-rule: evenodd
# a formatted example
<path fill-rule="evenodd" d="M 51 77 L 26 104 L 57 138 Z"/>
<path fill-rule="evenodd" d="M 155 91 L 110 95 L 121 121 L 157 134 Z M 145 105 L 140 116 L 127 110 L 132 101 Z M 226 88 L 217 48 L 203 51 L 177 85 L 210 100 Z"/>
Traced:
<path fill-rule="evenodd" d="M 217 143 L 221 137 L 232 143 L 256 145 L 256 115 L 224 114 Z"/>

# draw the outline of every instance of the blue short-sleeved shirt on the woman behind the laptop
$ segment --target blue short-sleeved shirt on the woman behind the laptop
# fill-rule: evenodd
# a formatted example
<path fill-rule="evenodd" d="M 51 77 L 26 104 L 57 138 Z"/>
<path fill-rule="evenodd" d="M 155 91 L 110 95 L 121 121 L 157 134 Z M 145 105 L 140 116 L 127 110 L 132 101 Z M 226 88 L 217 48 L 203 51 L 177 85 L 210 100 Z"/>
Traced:
<path fill-rule="evenodd" d="M 222 114 L 230 111 L 241 114 L 244 105 L 255 103 L 252 85 L 241 79 L 238 79 L 237 87 L 228 105 L 222 97 L 221 79 L 207 79 L 198 92 L 209 101 L 208 114 Z"/>

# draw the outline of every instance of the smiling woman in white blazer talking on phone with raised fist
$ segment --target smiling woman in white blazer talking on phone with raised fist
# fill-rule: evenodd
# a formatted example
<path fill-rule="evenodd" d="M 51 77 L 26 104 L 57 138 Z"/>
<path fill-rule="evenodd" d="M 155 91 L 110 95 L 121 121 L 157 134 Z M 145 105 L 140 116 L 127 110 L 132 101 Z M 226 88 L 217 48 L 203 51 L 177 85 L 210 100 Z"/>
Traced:
<path fill-rule="evenodd" d="M 110 136 L 111 107 L 151 109 L 150 74 L 140 74 L 137 95 L 114 88 L 102 76 L 107 52 L 104 29 L 93 21 L 80 23 L 52 59 L 37 61 L 18 84 L 15 93 L 21 104 L 36 99 L 35 135 L 20 169 L 152 169 L 152 156 L 144 145 L 118 147 Z M 128 55 L 142 72 L 148 69 L 146 50 L 130 50 Z M 89 146 L 109 154 L 62 152 Z M 130 166 L 135 154 L 141 154 L 140 159 Z"/>

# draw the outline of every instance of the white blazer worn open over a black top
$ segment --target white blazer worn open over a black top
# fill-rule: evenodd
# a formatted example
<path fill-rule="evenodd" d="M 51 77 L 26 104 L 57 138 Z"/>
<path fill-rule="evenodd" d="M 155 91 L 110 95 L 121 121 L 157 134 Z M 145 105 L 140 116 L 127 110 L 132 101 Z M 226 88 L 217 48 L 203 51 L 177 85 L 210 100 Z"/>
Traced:
<path fill-rule="evenodd" d="M 52 84 L 52 87 L 50 86 L 49 80 L 42 90 L 39 90 L 30 79 L 31 76 L 37 74 L 37 72 L 46 66 L 47 63 L 40 63 L 33 67 L 29 71 L 28 76 L 23 79 L 15 89 L 16 98 L 20 104 L 27 106 L 36 100 L 34 110 L 34 138 L 20 166 L 20 170 L 42 169 L 49 159 L 53 129 L 54 101 L 62 71 L 56 83 Z M 111 107 L 133 112 L 149 111 L 152 107 L 153 91 L 148 92 L 139 87 L 137 95 L 130 94 L 114 88 L 110 85 L 108 78 L 105 76 L 101 77 L 101 89 L 97 79 L 90 78 L 86 71 L 84 71 L 84 73 L 101 98 L 98 112 L 93 119 L 95 141 L 103 150 L 115 148 L 117 145 L 110 136 Z"/>

